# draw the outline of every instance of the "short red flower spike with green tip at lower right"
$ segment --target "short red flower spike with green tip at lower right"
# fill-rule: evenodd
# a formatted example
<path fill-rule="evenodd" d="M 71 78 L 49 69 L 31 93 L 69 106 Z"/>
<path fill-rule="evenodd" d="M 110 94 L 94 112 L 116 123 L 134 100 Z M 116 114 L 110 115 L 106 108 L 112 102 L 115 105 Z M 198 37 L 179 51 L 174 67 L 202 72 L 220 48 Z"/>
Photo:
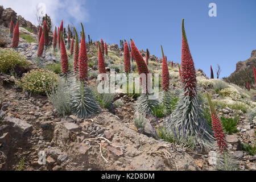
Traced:
<path fill-rule="evenodd" d="M 210 111 L 212 115 L 212 129 L 214 131 L 214 137 L 218 143 L 218 148 L 220 152 L 225 152 L 228 149 L 228 145 L 226 144 L 225 133 L 222 129 L 222 125 L 218 115 L 213 107 L 212 100 L 210 99 L 209 94 L 207 94 L 208 102 L 210 105 Z"/>

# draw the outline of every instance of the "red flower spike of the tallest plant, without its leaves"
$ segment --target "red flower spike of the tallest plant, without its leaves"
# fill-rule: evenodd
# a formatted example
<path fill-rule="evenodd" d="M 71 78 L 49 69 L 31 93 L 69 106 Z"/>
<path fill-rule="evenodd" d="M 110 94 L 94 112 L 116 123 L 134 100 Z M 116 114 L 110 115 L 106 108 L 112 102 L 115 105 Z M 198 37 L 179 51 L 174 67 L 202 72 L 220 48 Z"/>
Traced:
<path fill-rule="evenodd" d="M 182 53 L 181 53 L 181 81 L 184 84 L 185 96 L 189 94 L 193 97 L 196 92 L 196 69 L 191 56 L 188 40 L 184 28 L 184 19 L 182 20 Z"/>

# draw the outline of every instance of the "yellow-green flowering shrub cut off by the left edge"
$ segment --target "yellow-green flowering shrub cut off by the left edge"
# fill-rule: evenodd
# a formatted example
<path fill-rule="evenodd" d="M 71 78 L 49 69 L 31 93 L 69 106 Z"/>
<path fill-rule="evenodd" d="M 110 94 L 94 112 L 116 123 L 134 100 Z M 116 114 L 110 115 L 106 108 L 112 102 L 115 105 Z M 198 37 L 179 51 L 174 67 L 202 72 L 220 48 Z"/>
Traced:
<path fill-rule="evenodd" d="M 27 67 L 29 64 L 26 57 L 14 49 L 0 49 L 0 72 L 9 73 L 16 65 Z"/>

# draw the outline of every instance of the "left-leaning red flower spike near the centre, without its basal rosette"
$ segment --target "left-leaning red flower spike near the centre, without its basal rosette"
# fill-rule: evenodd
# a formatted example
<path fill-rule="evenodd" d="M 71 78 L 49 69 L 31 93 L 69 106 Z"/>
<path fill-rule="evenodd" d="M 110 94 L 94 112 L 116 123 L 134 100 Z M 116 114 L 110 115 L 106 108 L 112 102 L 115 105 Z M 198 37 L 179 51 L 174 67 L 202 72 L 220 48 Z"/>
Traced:
<path fill-rule="evenodd" d="M 148 88 L 150 88 L 150 86 L 151 86 L 151 85 L 147 85 L 148 84 L 147 75 L 149 73 L 147 65 L 146 65 L 141 53 L 139 52 L 138 48 L 135 46 L 133 40 L 131 40 L 131 49 L 133 50 L 133 55 L 134 55 L 134 59 L 135 59 L 136 64 L 137 64 L 139 75 L 141 75 L 141 74 L 146 75 L 146 85 L 144 85 L 144 82 L 141 82 L 141 84 L 142 84 L 142 89 L 143 90 L 146 89 L 146 93 L 147 93 Z"/>

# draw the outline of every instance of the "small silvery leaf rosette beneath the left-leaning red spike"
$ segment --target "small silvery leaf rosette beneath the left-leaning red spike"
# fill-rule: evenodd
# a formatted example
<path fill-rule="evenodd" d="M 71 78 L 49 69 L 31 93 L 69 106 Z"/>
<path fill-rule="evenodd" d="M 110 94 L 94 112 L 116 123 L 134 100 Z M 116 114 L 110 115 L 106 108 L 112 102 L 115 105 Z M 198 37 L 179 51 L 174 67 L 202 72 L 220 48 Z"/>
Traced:
<path fill-rule="evenodd" d="M 136 102 L 136 111 L 140 114 L 147 115 L 148 117 L 153 117 L 154 107 L 159 105 L 158 98 L 154 98 L 150 94 L 141 94 Z"/>

